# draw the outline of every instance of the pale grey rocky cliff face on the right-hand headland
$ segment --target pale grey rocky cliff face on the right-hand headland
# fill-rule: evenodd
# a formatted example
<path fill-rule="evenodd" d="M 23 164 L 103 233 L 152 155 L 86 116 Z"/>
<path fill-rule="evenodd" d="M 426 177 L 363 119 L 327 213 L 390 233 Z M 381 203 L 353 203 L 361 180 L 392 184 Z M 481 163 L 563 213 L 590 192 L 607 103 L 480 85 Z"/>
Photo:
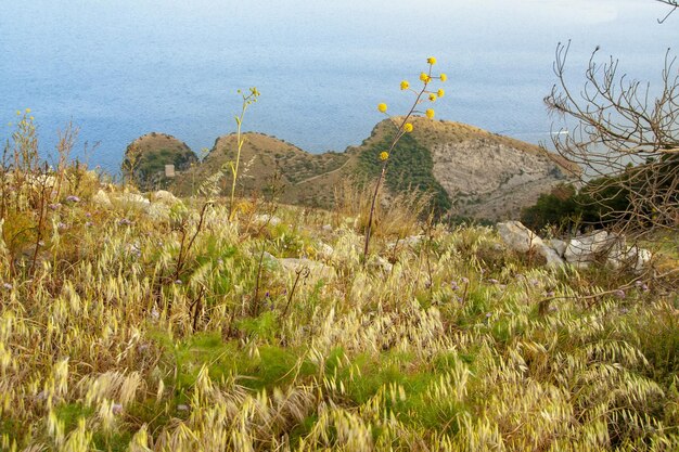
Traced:
<path fill-rule="evenodd" d="M 434 176 L 454 199 L 458 215 L 516 219 L 567 178 L 547 155 L 526 152 L 490 138 L 431 146 Z"/>

